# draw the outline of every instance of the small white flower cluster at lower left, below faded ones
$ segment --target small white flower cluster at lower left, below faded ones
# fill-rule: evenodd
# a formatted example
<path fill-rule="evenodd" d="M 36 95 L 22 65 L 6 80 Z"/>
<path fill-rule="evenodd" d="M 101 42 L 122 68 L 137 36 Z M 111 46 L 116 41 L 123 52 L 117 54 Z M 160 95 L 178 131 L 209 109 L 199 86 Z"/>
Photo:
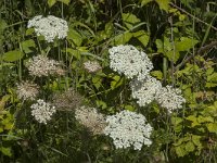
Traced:
<path fill-rule="evenodd" d="M 30 106 L 31 115 L 39 123 L 47 124 L 51 120 L 51 116 L 56 112 L 55 106 L 52 106 L 50 103 L 44 102 L 43 100 L 37 100 L 37 103 Z"/>

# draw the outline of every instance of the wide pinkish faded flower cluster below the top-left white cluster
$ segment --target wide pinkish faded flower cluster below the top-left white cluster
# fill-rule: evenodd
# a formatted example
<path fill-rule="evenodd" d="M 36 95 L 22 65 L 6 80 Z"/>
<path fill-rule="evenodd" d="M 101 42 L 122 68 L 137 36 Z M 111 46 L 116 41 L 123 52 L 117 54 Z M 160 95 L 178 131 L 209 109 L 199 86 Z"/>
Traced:
<path fill-rule="evenodd" d="M 50 60 L 41 54 L 30 59 L 26 65 L 29 71 L 29 74 L 33 76 L 41 77 L 53 74 L 64 74 L 64 70 L 62 70 L 60 62 Z"/>

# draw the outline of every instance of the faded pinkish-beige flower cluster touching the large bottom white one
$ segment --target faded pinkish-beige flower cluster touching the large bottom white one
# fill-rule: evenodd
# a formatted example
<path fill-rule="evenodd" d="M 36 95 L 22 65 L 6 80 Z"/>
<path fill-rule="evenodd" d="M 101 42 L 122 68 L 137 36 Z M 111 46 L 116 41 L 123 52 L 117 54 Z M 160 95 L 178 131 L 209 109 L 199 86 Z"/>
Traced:
<path fill-rule="evenodd" d="M 103 134 L 105 117 L 94 108 L 81 106 L 75 111 L 76 120 L 92 131 L 93 135 Z"/>

